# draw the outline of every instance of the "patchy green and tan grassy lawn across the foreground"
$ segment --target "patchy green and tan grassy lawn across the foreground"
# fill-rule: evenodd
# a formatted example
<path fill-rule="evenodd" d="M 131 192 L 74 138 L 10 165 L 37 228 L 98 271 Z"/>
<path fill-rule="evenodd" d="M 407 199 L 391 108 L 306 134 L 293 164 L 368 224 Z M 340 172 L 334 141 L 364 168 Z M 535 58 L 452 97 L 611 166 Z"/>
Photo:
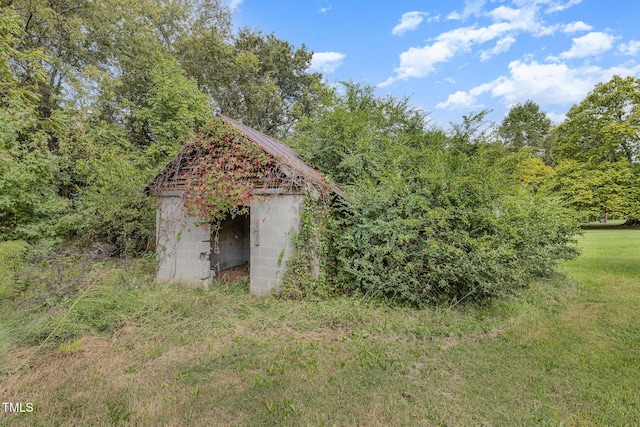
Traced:
<path fill-rule="evenodd" d="M 0 399 L 34 407 L 0 426 L 638 425 L 640 230 L 580 245 L 517 298 L 420 311 L 157 286 L 149 260 L 0 272 Z"/>

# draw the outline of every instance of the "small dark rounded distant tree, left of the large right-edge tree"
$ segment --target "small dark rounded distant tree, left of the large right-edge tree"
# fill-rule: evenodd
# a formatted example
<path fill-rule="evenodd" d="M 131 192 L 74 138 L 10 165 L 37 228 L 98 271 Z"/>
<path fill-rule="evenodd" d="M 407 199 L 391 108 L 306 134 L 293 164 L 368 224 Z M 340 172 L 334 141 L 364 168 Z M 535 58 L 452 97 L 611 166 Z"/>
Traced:
<path fill-rule="evenodd" d="M 531 100 L 516 104 L 498 127 L 502 143 L 513 149 L 532 148 L 548 160 L 551 120 Z"/>

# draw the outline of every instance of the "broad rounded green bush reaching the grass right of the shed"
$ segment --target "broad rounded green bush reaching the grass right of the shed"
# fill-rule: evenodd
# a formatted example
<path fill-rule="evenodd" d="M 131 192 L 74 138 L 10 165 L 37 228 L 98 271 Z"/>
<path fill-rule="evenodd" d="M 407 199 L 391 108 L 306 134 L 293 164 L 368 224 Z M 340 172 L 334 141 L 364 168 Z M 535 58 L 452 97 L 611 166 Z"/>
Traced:
<path fill-rule="evenodd" d="M 573 218 L 485 154 L 431 156 L 429 173 L 357 186 L 334 242 L 336 287 L 418 307 L 479 300 L 574 257 Z"/>

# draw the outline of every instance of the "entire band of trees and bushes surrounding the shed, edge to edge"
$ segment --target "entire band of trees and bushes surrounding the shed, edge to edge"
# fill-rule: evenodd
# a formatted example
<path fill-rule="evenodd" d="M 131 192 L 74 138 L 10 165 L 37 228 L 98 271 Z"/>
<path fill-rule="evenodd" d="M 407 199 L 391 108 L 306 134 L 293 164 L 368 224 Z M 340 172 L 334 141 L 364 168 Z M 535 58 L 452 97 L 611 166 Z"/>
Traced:
<path fill-rule="evenodd" d="M 409 99 L 338 89 L 312 52 L 232 29 L 221 0 L 5 0 L 0 239 L 152 249 L 142 188 L 215 111 L 296 148 L 353 200 L 333 289 L 413 304 L 509 292 L 575 256 L 578 221 L 640 218 L 640 79 L 554 126 L 533 101 L 450 129 Z"/>

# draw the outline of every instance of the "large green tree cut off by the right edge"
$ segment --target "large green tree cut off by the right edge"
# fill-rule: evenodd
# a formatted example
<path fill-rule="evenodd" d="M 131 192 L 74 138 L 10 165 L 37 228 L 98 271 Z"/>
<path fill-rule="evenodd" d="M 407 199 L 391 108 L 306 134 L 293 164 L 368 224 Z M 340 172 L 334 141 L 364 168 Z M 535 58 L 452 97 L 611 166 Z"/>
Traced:
<path fill-rule="evenodd" d="M 608 177 L 601 180 L 601 197 L 585 195 L 578 203 L 574 193 L 572 203 L 585 213 L 600 209 L 599 215 L 605 217 L 615 206 L 615 212 L 626 216 L 629 224 L 637 223 L 633 194 L 640 177 L 640 78 L 614 76 L 598 84 L 580 104 L 571 107 L 554 136 L 552 154 L 557 169 L 580 171 L 559 176 L 565 185 L 569 185 L 570 176 L 582 181 L 573 187 L 593 187 L 585 181 L 599 175 Z"/>

